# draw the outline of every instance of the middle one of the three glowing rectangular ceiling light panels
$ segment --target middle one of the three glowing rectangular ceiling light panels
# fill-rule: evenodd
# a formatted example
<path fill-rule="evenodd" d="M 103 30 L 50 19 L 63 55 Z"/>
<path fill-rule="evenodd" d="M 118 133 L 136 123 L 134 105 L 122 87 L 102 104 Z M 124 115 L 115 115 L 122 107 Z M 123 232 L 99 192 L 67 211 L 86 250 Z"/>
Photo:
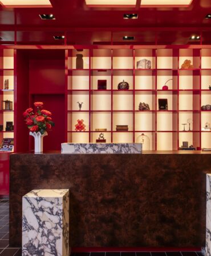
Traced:
<path fill-rule="evenodd" d="M 136 0 L 85 0 L 90 6 L 136 6 Z"/>

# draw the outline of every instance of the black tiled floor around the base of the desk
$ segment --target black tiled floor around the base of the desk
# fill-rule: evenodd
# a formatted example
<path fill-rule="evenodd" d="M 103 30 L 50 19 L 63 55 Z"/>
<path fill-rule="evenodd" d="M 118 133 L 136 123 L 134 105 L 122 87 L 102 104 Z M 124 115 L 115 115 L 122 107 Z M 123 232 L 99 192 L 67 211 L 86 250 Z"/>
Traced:
<path fill-rule="evenodd" d="M 21 256 L 21 248 L 9 247 L 9 198 L 0 197 L 0 256 Z M 200 251 L 71 253 L 71 256 L 202 256 Z"/>

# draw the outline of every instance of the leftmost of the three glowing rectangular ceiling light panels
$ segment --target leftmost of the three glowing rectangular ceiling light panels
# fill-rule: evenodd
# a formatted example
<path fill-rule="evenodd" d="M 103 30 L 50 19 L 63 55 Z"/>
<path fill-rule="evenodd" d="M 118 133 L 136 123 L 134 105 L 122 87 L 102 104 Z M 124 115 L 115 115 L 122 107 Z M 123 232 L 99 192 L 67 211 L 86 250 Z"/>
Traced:
<path fill-rule="evenodd" d="M 52 7 L 49 0 L 0 0 L 4 7 Z"/>

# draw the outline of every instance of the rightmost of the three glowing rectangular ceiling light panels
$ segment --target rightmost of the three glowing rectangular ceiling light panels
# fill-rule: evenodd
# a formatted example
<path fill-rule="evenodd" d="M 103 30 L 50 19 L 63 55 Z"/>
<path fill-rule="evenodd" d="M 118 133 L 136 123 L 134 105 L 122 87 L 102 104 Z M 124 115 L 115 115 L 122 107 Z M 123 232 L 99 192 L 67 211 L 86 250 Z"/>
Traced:
<path fill-rule="evenodd" d="M 141 0 L 141 6 L 188 6 L 193 0 Z"/>

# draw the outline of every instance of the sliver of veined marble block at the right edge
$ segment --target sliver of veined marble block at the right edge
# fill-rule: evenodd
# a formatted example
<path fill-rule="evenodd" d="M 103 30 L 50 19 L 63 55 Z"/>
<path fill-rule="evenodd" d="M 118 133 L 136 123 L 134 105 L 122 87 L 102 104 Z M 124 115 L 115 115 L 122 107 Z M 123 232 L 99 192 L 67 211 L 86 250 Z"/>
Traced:
<path fill-rule="evenodd" d="M 205 255 L 210 256 L 211 248 L 211 174 L 206 175 L 206 247 Z"/>

